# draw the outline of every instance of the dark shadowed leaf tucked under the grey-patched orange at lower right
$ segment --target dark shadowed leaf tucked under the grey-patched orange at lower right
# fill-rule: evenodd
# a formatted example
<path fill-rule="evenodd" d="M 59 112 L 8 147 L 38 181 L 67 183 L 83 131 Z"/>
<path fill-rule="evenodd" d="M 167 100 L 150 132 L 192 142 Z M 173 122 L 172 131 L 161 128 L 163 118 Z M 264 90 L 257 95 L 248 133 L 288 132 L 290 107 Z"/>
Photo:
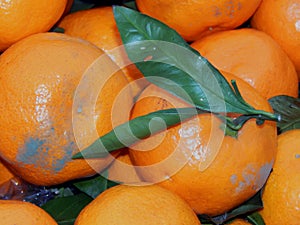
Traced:
<path fill-rule="evenodd" d="M 258 209 L 262 209 L 263 203 L 261 199 L 262 189 L 257 192 L 252 198 L 236 207 L 235 209 L 226 212 L 225 214 L 210 217 L 207 215 L 198 215 L 201 223 L 213 222 L 215 224 L 223 224 L 226 221 L 229 221 L 237 216 L 242 216 L 248 213 L 255 212 Z"/>

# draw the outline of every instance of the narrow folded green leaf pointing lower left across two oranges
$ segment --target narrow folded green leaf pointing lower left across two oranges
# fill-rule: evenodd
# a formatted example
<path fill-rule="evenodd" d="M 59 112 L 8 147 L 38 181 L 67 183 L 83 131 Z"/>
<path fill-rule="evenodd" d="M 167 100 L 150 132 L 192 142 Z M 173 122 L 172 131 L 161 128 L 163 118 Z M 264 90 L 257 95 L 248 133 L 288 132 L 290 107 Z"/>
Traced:
<path fill-rule="evenodd" d="M 142 138 L 165 130 L 201 112 L 195 108 L 178 108 L 159 110 L 137 117 L 115 127 L 89 147 L 75 154 L 73 159 L 105 157 L 111 151 L 130 146 Z"/>

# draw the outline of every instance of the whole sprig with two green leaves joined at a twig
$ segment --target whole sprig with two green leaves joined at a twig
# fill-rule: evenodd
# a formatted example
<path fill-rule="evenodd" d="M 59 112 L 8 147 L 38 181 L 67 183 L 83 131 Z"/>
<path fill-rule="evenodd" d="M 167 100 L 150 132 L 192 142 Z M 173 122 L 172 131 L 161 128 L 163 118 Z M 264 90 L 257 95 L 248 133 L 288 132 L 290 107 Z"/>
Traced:
<path fill-rule="evenodd" d="M 113 11 L 129 58 L 150 82 L 202 112 L 246 114 L 235 120 L 223 117 L 232 131 L 240 129 L 251 118 L 260 123 L 278 119 L 277 115 L 256 110 L 245 102 L 235 82 L 232 81 L 232 88 L 216 68 L 170 27 L 125 7 L 114 6 Z M 74 155 L 73 159 L 105 157 L 111 151 L 128 147 L 196 115 L 194 112 L 183 113 L 182 118 L 178 109 L 172 110 L 161 110 L 124 123 Z M 150 121 L 154 123 L 152 129 L 149 128 Z"/>

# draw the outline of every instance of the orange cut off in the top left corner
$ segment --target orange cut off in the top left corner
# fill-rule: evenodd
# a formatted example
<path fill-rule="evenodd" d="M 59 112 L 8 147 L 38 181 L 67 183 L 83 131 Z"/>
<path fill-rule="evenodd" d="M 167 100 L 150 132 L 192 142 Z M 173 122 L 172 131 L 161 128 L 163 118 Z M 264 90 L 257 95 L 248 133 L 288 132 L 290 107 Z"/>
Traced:
<path fill-rule="evenodd" d="M 49 31 L 67 0 L 10 0 L 0 3 L 0 51 L 31 34 Z"/>

